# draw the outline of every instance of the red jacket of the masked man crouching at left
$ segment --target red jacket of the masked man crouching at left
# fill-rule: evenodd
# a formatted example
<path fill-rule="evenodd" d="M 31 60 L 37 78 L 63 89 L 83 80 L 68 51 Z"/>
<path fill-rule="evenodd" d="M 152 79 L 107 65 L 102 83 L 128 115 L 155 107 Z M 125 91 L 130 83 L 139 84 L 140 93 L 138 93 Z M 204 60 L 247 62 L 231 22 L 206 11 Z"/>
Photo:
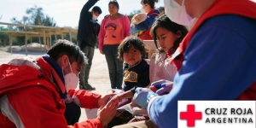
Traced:
<path fill-rule="evenodd" d="M 64 117 L 65 103 L 59 93 L 65 93 L 60 78 L 55 78 L 53 67 L 43 58 L 38 58 L 34 67 L 3 64 L 0 66 L 0 127 L 26 128 L 102 128 L 99 119 L 88 119 L 67 126 Z M 55 78 L 56 83 L 53 83 Z M 59 87 L 57 87 L 57 85 Z M 79 97 L 81 108 L 98 108 L 100 95 L 87 90 L 73 93 Z"/>

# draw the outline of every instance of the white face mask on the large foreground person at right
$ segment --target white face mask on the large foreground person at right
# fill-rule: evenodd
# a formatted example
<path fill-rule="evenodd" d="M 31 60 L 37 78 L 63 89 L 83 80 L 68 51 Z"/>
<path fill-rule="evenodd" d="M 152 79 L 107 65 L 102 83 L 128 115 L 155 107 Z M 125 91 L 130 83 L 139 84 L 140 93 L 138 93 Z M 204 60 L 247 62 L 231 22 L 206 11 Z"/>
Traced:
<path fill-rule="evenodd" d="M 166 15 L 177 24 L 183 26 L 192 26 L 195 18 L 191 18 L 187 12 L 184 5 L 184 0 L 182 5 L 179 5 L 175 0 L 165 0 L 165 11 Z"/>

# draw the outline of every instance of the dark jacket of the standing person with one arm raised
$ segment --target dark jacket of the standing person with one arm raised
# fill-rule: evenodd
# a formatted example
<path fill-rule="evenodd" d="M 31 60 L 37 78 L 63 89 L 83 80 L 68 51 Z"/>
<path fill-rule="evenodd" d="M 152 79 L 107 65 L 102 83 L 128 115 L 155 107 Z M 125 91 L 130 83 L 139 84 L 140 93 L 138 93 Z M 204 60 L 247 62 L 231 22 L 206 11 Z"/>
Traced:
<path fill-rule="evenodd" d="M 99 32 L 100 26 L 95 20 L 92 20 L 92 15 L 89 12 L 89 9 L 97 2 L 97 0 L 89 0 L 84 4 L 83 9 L 80 13 L 79 19 L 79 32 L 78 32 L 78 40 L 84 40 L 83 44 L 79 44 L 84 46 L 92 46 L 96 45 L 97 41 L 97 33 Z"/>

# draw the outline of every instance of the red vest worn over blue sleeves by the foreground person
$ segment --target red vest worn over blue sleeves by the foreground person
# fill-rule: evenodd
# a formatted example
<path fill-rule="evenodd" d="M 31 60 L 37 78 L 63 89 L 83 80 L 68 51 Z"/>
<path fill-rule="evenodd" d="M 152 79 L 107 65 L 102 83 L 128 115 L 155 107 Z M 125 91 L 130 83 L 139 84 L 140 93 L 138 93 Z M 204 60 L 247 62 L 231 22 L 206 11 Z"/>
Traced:
<path fill-rule="evenodd" d="M 212 3 L 212 6 L 207 9 L 207 11 L 201 15 L 201 18 L 196 22 L 195 26 L 183 39 L 182 43 L 179 45 L 175 53 L 172 55 L 171 61 L 169 63 L 174 63 L 177 70 L 182 67 L 184 60 L 183 53 L 189 46 L 189 41 L 193 37 L 194 33 L 197 31 L 201 24 L 214 16 L 217 15 L 241 15 L 244 17 L 256 19 L 256 3 L 250 0 L 216 0 Z M 256 99 L 256 81 L 245 90 L 237 100 L 255 100 Z"/>

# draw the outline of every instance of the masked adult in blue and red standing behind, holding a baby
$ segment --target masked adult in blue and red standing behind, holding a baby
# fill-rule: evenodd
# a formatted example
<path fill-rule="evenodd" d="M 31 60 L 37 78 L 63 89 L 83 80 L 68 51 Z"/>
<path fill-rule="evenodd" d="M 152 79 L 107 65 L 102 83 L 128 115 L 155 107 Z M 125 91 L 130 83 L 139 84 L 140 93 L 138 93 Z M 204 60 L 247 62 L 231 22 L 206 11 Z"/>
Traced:
<path fill-rule="evenodd" d="M 155 17 L 160 14 L 160 11 L 154 7 L 155 3 L 158 3 L 158 0 L 141 0 L 141 4 L 143 5 L 141 13 L 146 14 L 147 18 L 143 22 L 140 22 L 137 25 L 135 24 L 134 28 L 141 31 L 138 34 L 138 38 L 141 38 L 142 40 L 153 39 L 149 34 L 150 28 L 154 23 Z"/>

